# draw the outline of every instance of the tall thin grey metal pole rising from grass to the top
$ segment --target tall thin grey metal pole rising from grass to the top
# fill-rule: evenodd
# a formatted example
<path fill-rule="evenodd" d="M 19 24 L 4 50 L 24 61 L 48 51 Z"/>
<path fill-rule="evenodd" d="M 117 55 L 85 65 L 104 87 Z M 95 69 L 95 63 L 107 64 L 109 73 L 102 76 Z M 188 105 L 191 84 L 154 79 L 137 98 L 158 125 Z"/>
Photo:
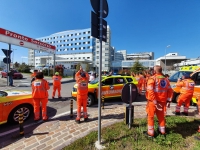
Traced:
<path fill-rule="evenodd" d="M 103 31 L 103 0 L 100 0 L 100 55 L 99 55 L 99 92 L 98 92 L 98 143 L 101 144 L 101 70 L 102 70 L 102 31 Z"/>

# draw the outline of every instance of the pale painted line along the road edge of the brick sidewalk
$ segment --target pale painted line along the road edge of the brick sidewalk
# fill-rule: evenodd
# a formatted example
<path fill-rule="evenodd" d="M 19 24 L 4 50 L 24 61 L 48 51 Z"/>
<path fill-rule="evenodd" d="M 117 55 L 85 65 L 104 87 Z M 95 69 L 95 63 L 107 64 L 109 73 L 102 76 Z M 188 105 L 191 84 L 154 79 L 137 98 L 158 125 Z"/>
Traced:
<path fill-rule="evenodd" d="M 75 109 L 74 111 L 76 111 L 76 109 Z M 74 113 L 74 111 L 73 111 L 73 113 Z M 60 116 L 67 115 L 67 114 L 69 114 L 69 113 L 70 113 L 70 111 L 67 111 L 67 112 L 65 112 L 65 113 L 61 113 L 61 114 L 55 115 L 55 116 L 53 116 L 53 117 L 50 117 L 50 119 L 55 119 L 55 118 L 58 118 L 58 117 L 60 117 Z M 35 124 L 41 123 L 41 122 L 43 122 L 43 121 L 40 120 L 40 121 L 38 121 L 37 123 L 31 123 L 31 124 L 29 124 L 29 125 L 25 125 L 25 126 L 24 126 L 24 129 L 25 129 L 25 128 L 28 128 L 28 127 L 30 127 L 30 126 L 33 126 L 33 125 L 35 125 Z M 15 129 L 12 129 L 12 130 L 3 132 L 3 133 L 0 134 L 0 137 L 2 137 L 2 136 L 4 136 L 4 135 L 7 135 L 7 134 L 10 134 L 10 133 L 13 133 L 13 132 L 16 132 L 16 131 L 19 131 L 19 128 L 15 128 Z"/>

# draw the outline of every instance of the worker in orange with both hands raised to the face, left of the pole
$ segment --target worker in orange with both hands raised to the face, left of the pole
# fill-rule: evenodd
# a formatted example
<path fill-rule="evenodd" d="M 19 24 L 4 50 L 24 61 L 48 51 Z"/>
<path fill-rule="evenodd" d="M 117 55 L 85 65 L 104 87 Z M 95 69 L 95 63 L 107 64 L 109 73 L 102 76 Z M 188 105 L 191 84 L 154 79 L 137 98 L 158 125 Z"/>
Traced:
<path fill-rule="evenodd" d="M 82 66 L 80 66 L 80 70 L 76 73 L 75 79 L 77 83 L 77 117 L 75 121 L 80 123 L 81 106 L 83 106 L 84 121 L 88 120 L 87 99 L 89 75 L 87 72 L 83 71 Z"/>

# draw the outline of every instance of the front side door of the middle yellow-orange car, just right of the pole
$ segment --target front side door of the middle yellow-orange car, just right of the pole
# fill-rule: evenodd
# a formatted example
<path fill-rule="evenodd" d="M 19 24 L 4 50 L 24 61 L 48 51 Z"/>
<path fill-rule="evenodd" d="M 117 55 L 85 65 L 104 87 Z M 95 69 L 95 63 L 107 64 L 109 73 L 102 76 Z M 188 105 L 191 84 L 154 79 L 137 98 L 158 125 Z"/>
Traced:
<path fill-rule="evenodd" d="M 102 96 L 104 98 L 112 97 L 112 89 L 113 89 L 113 78 L 108 77 L 102 81 Z"/>

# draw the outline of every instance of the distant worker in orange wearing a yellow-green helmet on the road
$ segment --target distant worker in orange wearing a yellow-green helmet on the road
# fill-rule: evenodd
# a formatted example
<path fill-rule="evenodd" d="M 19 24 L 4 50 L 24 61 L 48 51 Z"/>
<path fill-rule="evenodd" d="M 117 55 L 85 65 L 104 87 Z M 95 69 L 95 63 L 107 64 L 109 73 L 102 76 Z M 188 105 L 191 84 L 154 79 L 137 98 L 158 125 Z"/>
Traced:
<path fill-rule="evenodd" d="M 55 75 L 52 77 L 52 79 L 53 79 L 52 99 L 54 99 L 57 90 L 58 90 L 58 98 L 62 98 L 60 94 L 62 77 L 59 75 L 59 72 L 56 72 Z"/>

